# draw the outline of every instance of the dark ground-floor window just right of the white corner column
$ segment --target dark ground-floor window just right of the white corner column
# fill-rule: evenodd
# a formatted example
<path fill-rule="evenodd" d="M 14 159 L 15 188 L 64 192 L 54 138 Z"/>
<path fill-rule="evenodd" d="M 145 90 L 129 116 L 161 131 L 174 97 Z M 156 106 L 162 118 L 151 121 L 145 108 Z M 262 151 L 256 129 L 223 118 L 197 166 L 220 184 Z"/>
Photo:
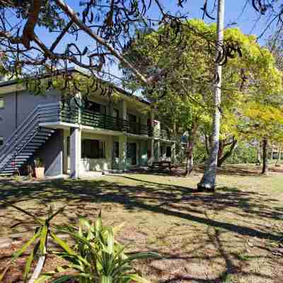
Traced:
<path fill-rule="evenodd" d="M 105 158 L 105 141 L 83 139 L 81 142 L 81 157 L 91 159 Z"/>

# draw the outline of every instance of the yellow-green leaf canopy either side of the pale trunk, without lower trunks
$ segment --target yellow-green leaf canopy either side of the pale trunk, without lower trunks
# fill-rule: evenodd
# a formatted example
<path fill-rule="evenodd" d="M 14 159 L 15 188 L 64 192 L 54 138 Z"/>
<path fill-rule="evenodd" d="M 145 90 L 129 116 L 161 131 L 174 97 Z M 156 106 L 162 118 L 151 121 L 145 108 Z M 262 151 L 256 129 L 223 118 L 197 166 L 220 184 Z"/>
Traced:
<path fill-rule="evenodd" d="M 149 89 L 134 79 L 127 68 L 120 67 L 129 81 L 127 87 L 141 89 L 144 96 L 156 101 L 158 119 L 168 127 L 175 125 L 179 134 L 183 130 L 191 135 L 193 125 L 198 132 L 201 130 L 209 136 L 214 109 L 214 52 L 211 52 L 214 46 L 207 45 L 206 40 L 215 39 L 216 25 L 199 20 L 187 21 L 186 25 L 187 33 L 183 35 L 186 47 L 178 45 L 180 38 L 172 30 L 159 28 L 139 34 L 131 50 L 125 53 L 129 61 L 137 63 L 149 76 L 154 72 L 153 66 L 169 70 L 158 88 Z M 200 34 L 204 37 L 199 37 Z M 168 40 L 160 44 L 159 37 Z M 270 139 L 278 140 L 283 137 L 279 130 L 282 74 L 275 67 L 275 58 L 267 48 L 260 47 L 255 36 L 245 35 L 238 28 L 226 28 L 224 41 L 236 42 L 242 56 L 235 54 L 223 66 L 220 138 L 234 137 L 241 141 L 268 134 Z"/>

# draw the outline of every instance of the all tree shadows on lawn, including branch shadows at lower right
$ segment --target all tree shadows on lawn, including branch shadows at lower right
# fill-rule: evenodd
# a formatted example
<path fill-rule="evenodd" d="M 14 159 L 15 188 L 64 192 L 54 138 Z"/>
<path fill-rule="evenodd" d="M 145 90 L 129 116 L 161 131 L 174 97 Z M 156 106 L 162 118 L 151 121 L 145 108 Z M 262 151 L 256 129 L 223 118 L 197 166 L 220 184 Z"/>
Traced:
<path fill-rule="evenodd" d="M 111 182 L 111 178 L 115 178 L 115 182 Z M 119 183 L 117 180 L 129 180 L 138 183 L 125 184 Z M 192 193 L 194 192 L 194 193 Z M 197 272 L 187 272 L 182 270 L 183 274 L 172 275 L 159 282 L 225 282 L 233 275 L 248 276 L 241 269 L 241 265 L 235 262 L 238 260 L 238 255 L 231 251 L 226 251 L 226 244 L 223 243 L 221 234 L 230 233 L 237 237 L 260 238 L 262 240 L 280 241 L 282 234 L 277 231 L 272 231 L 269 227 L 253 226 L 248 224 L 237 224 L 233 219 L 207 216 L 207 212 L 217 214 L 226 211 L 232 212 L 233 216 L 238 218 L 247 217 L 247 219 L 263 218 L 265 221 L 270 219 L 280 219 L 283 212 L 269 206 L 269 202 L 279 202 L 279 200 L 271 199 L 268 195 L 259 195 L 258 192 L 243 191 L 236 187 L 219 187 L 214 194 L 199 193 L 192 188 L 168 185 L 164 183 L 151 182 L 150 180 L 140 180 L 133 175 L 117 175 L 110 177 L 109 180 L 53 180 L 41 183 L 22 183 L 1 181 L 0 182 L 0 200 L 6 200 L 20 207 L 27 208 L 31 212 L 37 212 L 40 209 L 40 214 L 44 215 L 47 207 L 57 202 L 59 205 L 69 204 L 69 207 L 64 211 L 65 221 L 76 221 L 76 213 L 81 214 L 97 214 L 101 204 L 108 204 L 114 207 L 115 205 L 122 206 L 127 212 L 153 212 L 154 215 L 173 216 L 176 219 L 183 219 L 191 223 L 206 226 L 208 238 L 198 239 L 197 250 L 207 248 L 211 243 L 217 250 L 216 255 L 184 255 L 182 249 L 180 253 L 163 252 L 162 255 L 166 260 L 177 261 L 185 260 L 189 265 L 191 260 L 217 260 L 224 259 L 224 270 L 216 277 L 205 279 L 197 276 Z M 43 208 L 42 208 L 43 207 Z M 95 210 L 97 208 L 97 210 Z M 236 209 L 236 210 L 235 210 Z M 18 221 L 18 213 L 13 213 L 11 207 L 0 202 L 0 224 L 11 226 Z M 262 222 L 265 222 L 262 221 Z M 185 227 L 185 222 L 181 226 Z M 178 226 L 176 226 L 178 228 Z M 197 226 L 198 227 L 198 226 Z M 172 228 L 170 228 L 172 229 Z M 197 228 L 195 229 L 197 231 Z M 168 232 L 164 233 L 164 239 L 158 238 L 158 241 L 165 241 Z M 154 232 L 153 232 L 154 233 Z M 203 233 L 200 231 L 200 233 Z M 229 234 L 229 235 L 230 235 Z M 174 235 L 178 236 L 177 232 Z M 182 237 L 182 236 L 180 236 Z M 240 238 L 241 239 L 241 238 Z M 240 241 L 240 240 L 239 240 Z M 243 244 L 243 243 L 242 243 Z M 160 252 L 160 250 L 157 250 Z M 239 260 L 238 260 L 239 261 Z M 151 266 L 154 272 L 163 272 L 158 270 L 158 267 Z M 252 272 L 250 272 L 252 275 Z M 253 272 L 255 277 L 270 279 L 268 275 L 260 272 Z"/>

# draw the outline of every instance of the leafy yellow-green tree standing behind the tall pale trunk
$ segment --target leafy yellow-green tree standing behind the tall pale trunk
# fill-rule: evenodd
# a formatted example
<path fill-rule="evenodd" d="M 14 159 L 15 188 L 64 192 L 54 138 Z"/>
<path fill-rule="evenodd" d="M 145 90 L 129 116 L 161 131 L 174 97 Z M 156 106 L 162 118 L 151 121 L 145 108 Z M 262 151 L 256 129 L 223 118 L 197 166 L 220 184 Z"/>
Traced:
<path fill-rule="evenodd" d="M 186 40 L 188 47 L 178 45 L 179 38 L 170 30 L 159 28 L 157 31 L 138 33 L 132 48 L 125 52 L 125 57 L 130 62 L 138 62 L 137 68 L 148 76 L 156 68 L 163 69 L 167 65 L 172 67 L 171 73 L 167 74 L 155 88 L 144 86 L 132 76 L 127 67 L 123 65 L 121 67 L 127 81 L 125 87 L 141 90 L 146 98 L 158 104 L 156 110 L 161 120 L 168 122 L 171 117 L 178 115 L 178 112 L 186 113 L 186 117 L 179 115 L 177 124 L 182 125 L 184 132 L 191 133 L 192 139 L 189 138 L 187 146 L 187 168 L 190 172 L 195 140 L 195 134 L 192 136 L 192 133 L 197 132 L 201 127 L 204 137 L 209 140 L 212 131 L 212 127 L 209 126 L 212 120 L 209 116 L 214 110 L 212 83 L 209 83 L 209 78 L 213 74 L 211 66 L 214 64 L 214 58 L 207 49 L 205 40 L 197 40 L 195 32 L 215 38 L 216 27 L 196 20 L 187 23 L 187 38 L 183 39 L 183 42 Z M 163 40 L 161 41 L 160 38 Z M 233 58 L 223 67 L 222 101 L 219 106 L 219 111 L 222 113 L 219 135 L 221 146 L 217 151 L 219 157 L 217 166 L 221 166 L 226 158 L 231 156 L 237 141 L 242 138 L 241 132 L 235 127 L 241 120 L 239 110 L 246 107 L 247 101 L 254 100 L 258 92 L 263 99 L 265 98 L 263 92 L 270 94 L 272 91 L 278 91 L 280 84 L 280 75 L 274 67 L 272 54 L 262 49 L 256 43 L 255 37 L 243 35 L 237 28 L 228 28 L 225 30 L 224 40 L 226 45 L 228 42 L 237 42 L 241 46 L 241 57 L 236 56 L 235 50 Z M 190 101 L 190 106 L 187 106 L 185 111 L 174 104 L 174 101 L 185 103 L 186 100 Z M 163 106 L 160 107 L 161 105 Z M 171 108 L 168 108 L 168 105 L 171 105 Z M 200 115 L 203 116 L 199 118 Z M 184 123 L 189 127 L 185 127 Z M 229 149 L 226 150 L 228 147 Z"/>

